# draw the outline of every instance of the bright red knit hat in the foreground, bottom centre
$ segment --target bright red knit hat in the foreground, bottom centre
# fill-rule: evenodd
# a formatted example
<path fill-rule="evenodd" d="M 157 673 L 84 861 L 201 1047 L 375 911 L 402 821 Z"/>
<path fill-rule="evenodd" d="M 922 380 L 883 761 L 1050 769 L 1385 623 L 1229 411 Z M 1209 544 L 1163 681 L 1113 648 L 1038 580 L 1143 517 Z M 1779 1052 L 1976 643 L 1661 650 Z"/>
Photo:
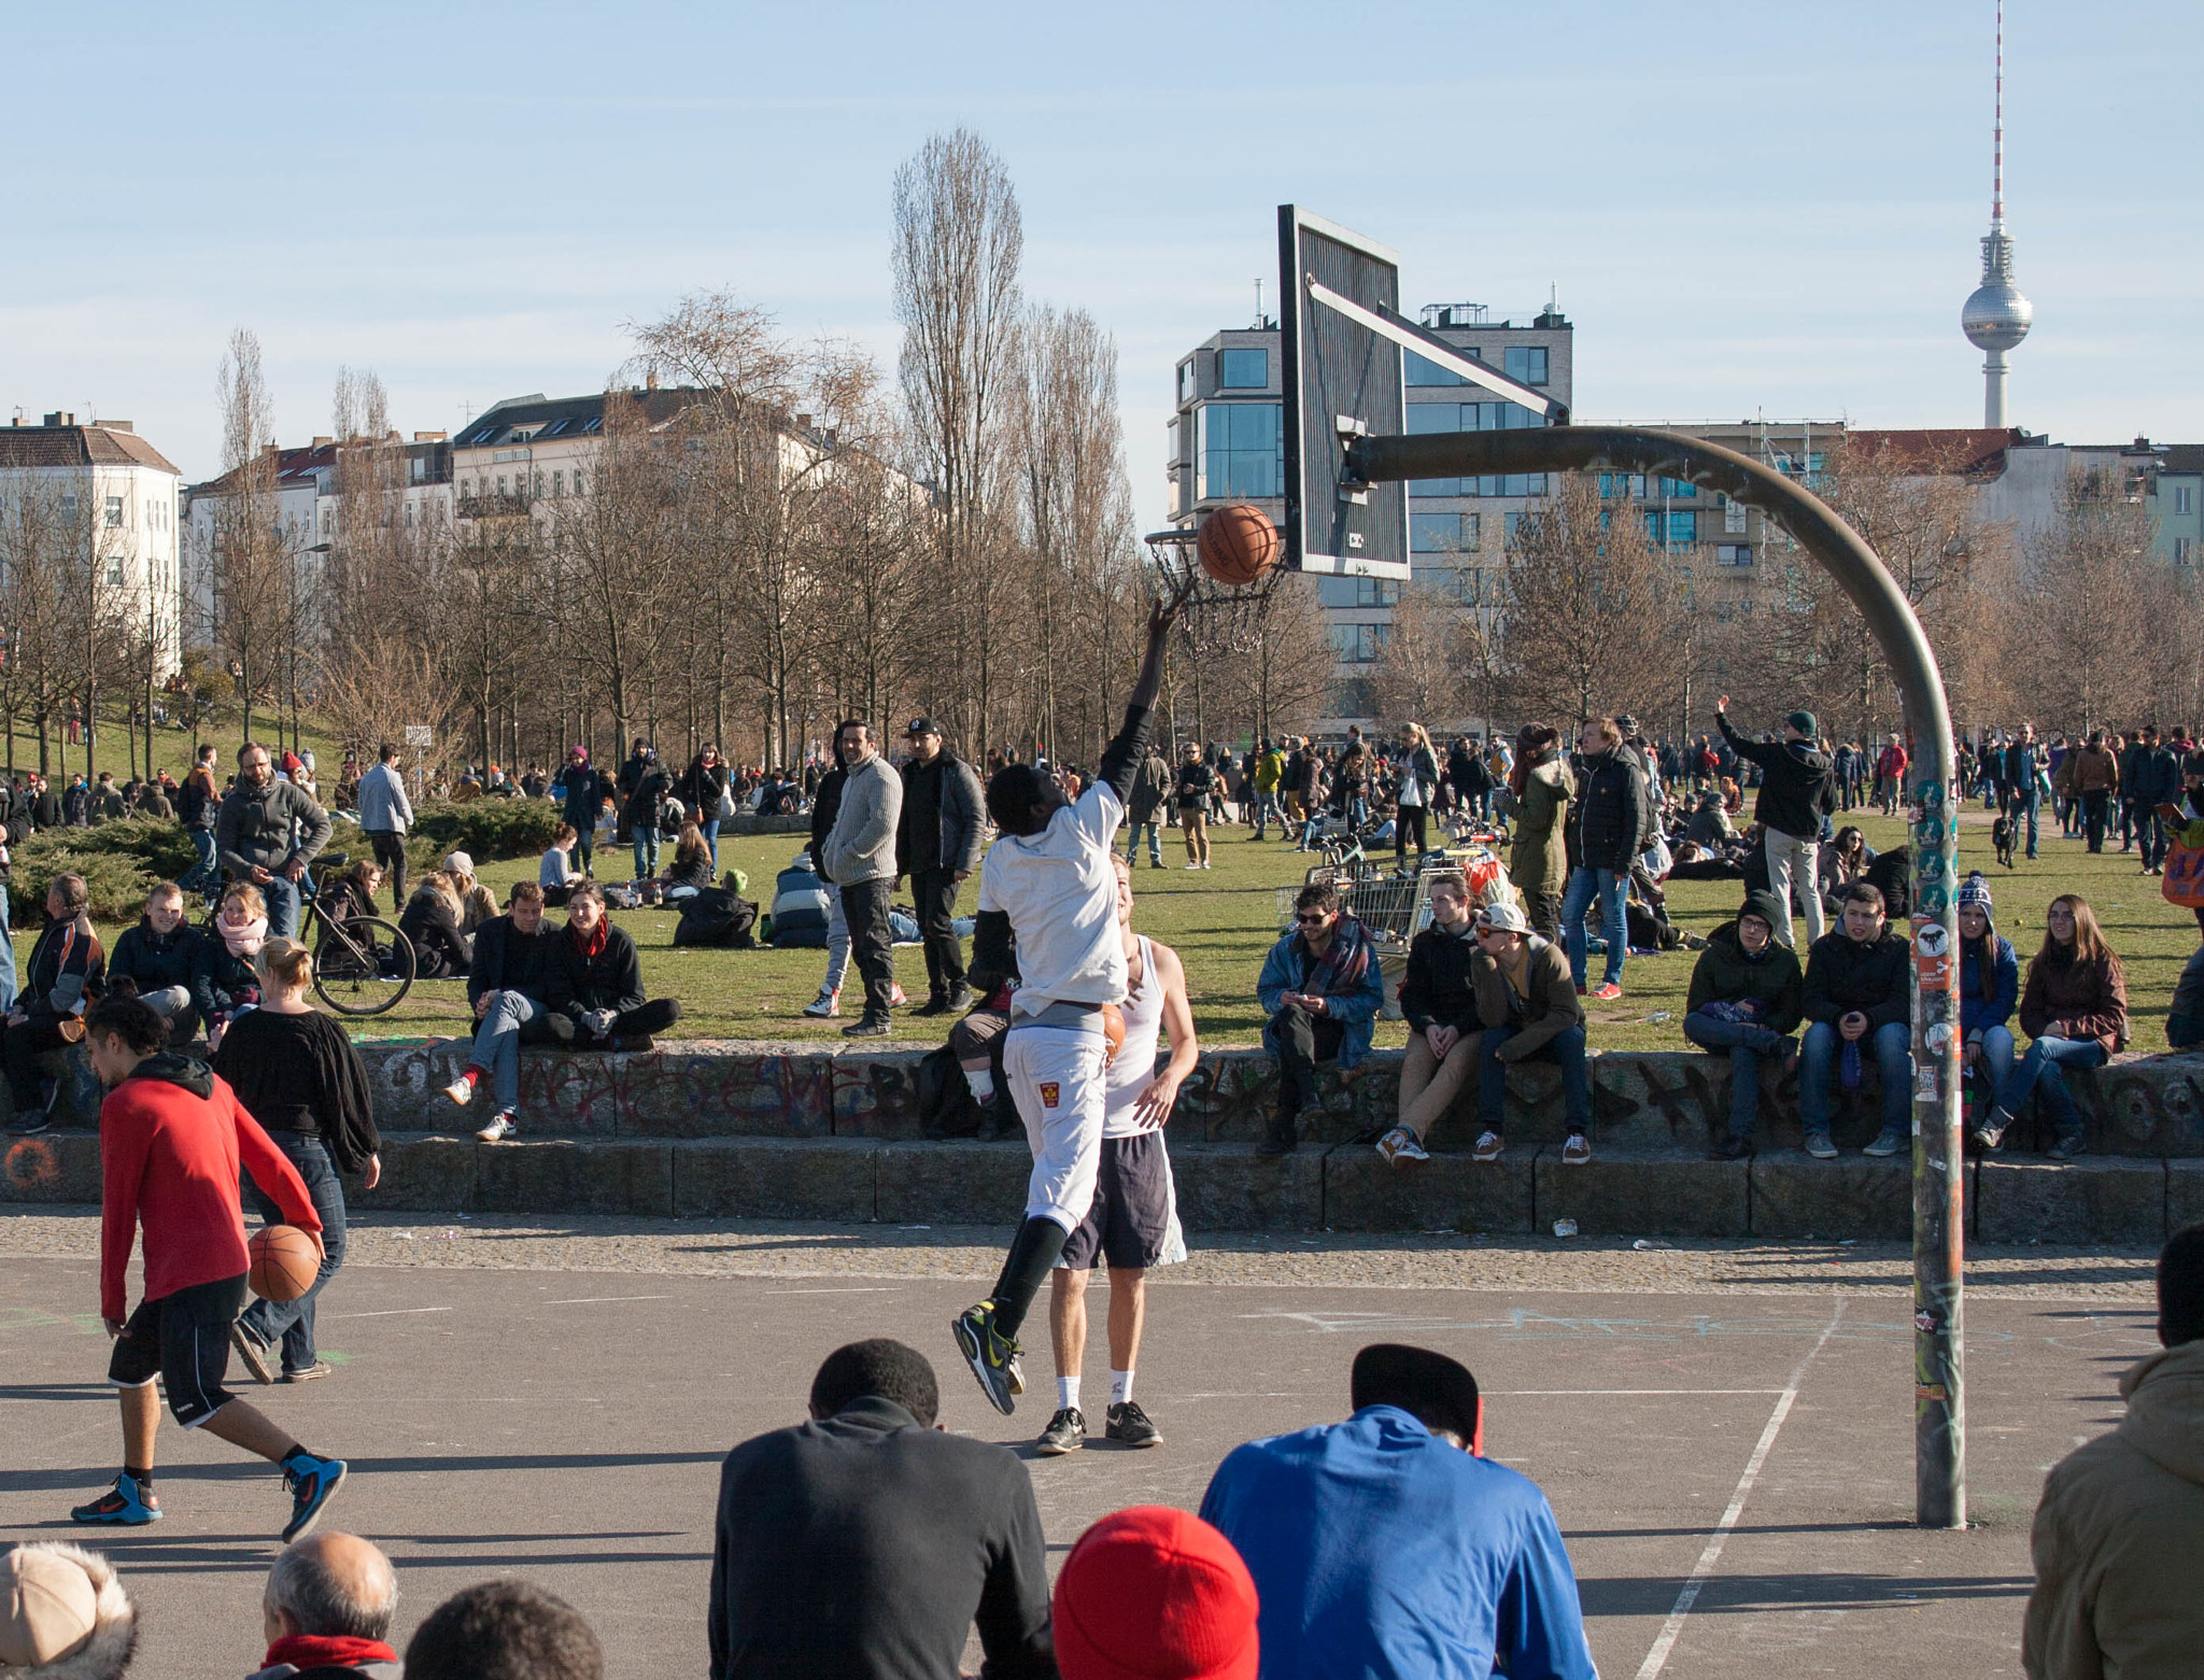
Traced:
<path fill-rule="evenodd" d="M 1170 1506 L 1104 1517 L 1056 1576 L 1065 1680 L 1254 1680 L 1254 1579 L 1232 1541 Z"/>

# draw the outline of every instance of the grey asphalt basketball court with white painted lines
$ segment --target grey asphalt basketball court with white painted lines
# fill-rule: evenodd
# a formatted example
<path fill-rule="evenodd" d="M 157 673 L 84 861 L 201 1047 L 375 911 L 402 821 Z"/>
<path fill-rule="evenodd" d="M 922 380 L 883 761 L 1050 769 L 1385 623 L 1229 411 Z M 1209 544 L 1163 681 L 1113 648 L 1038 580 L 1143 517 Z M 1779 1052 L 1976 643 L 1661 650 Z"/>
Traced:
<path fill-rule="evenodd" d="M 119 1451 L 93 1266 L 0 1277 L 0 1539 L 73 1532 Z M 401 1634 L 511 1572 L 597 1627 L 613 1676 L 703 1671 L 719 1460 L 802 1418 L 818 1360 L 860 1336 L 921 1347 L 943 1422 L 1025 1449 L 1049 1391 L 985 1407 L 948 1336 L 974 1285 L 348 1268 L 322 1310 L 339 1365 L 234 1387 L 353 1464 L 328 1523 L 399 1565 Z M 1087 1398 L 1106 1398 L 1100 1288 Z M 1565 1294 L 1168 1285 L 1150 1290 L 1139 1398 L 1166 1444 L 1034 1460 L 1060 1559 L 1128 1504 L 1192 1508 L 1234 1444 L 1344 1415 L 1369 1340 L 1466 1360 L 1488 1451 L 1554 1501 L 1600 1671 L 1616 1676 L 2021 1673 L 2028 1523 L 2043 1471 L 2116 1422 L 2151 1314 L 2103 1301 L 1968 1307 L 1975 1528 L 1913 1510 L 1911 1312 L 1900 1296 Z M 1027 1340 L 1047 1369 L 1045 1321 Z M 271 1468 L 163 1420 L 168 1521 L 101 1532 L 143 1614 L 139 1671 L 256 1667 L 258 1596 L 287 1501 Z M 403 1638 L 399 1638 L 403 1645 Z M 976 1656 L 976 1651 L 974 1651 Z"/>

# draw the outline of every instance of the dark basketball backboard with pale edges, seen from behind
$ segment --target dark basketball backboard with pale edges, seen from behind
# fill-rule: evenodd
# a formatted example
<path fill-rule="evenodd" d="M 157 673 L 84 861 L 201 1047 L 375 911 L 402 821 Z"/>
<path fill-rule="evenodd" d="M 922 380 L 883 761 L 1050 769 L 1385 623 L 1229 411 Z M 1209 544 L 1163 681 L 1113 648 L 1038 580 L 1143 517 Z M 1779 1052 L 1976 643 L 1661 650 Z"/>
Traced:
<path fill-rule="evenodd" d="M 1408 430 L 1400 344 L 1311 295 L 1400 315 L 1400 258 L 1278 205 L 1278 373 L 1285 392 L 1285 567 L 1408 575 L 1408 485 L 1347 476 L 1347 439 Z"/>

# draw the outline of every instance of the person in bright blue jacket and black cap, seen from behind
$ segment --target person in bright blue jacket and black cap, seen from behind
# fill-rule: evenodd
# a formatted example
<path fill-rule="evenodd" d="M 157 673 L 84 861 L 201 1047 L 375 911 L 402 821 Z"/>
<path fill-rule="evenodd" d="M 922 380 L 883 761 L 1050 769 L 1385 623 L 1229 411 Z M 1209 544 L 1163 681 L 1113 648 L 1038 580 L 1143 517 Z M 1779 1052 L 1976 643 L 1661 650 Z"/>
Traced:
<path fill-rule="evenodd" d="M 1201 1497 L 1254 1576 L 1261 1680 L 1598 1680 L 1538 1484 L 1483 1457 L 1466 1367 L 1355 1354 L 1353 1415 L 1234 1449 Z"/>

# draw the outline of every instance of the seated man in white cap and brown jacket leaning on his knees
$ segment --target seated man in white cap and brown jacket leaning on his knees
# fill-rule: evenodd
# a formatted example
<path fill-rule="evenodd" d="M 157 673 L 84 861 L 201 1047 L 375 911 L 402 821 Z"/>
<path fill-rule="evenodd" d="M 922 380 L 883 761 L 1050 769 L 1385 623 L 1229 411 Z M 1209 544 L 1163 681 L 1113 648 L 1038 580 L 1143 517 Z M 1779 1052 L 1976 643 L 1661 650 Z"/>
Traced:
<path fill-rule="evenodd" d="M 1585 1063 L 1585 1005 L 1569 979 L 1560 946 L 1530 930 L 1514 904 L 1477 913 L 1477 1149 L 1481 1162 L 1499 1160 L 1508 1120 L 1508 1067 L 1547 1060 L 1560 1065 L 1560 1105 L 1569 1138 L 1560 1160 L 1591 1160 L 1591 1067 Z"/>

